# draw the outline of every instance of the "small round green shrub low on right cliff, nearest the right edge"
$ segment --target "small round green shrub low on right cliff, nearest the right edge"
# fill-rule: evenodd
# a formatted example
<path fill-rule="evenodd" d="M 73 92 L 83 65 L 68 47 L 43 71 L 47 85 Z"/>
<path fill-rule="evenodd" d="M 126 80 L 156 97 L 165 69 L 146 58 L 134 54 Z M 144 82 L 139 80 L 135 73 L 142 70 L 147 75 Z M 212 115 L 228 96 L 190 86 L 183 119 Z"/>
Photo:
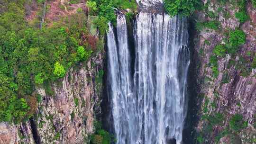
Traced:
<path fill-rule="evenodd" d="M 239 132 L 241 129 L 246 128 L 247 124 L 247 122 L 243 121 L 243 115 L 241 114 L 235 114 L 229 121 L 230 128 L 235 132 Z"/>

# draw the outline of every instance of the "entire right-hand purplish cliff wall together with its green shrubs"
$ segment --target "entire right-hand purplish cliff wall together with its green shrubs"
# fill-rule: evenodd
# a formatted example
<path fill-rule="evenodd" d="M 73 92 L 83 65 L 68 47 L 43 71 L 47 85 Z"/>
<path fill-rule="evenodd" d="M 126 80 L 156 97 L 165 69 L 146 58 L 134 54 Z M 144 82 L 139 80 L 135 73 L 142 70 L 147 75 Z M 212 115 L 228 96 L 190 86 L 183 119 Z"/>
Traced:
<path fill-rule="evenodd" d="M 256 78 L 255 9 L 251 3 L 254 0 L 208 1 L 193 15 L 198 32 L 195 48 L 202 60 L 197 65 L 202 75 L 198 80 L 202 104 L 194 143 L 256 143 L 255 111 L 248 108 L 255 99 Z"/>

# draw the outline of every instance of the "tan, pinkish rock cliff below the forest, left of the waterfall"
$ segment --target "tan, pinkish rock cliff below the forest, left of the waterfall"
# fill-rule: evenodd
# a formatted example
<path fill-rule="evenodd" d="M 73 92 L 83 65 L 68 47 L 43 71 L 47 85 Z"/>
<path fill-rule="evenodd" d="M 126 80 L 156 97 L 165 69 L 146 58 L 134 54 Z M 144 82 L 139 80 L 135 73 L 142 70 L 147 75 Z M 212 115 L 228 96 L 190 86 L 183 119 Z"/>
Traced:
<path fill-rule="evenodd" d="M 0 124 L 0 144 L 83 144 L 94 132 L 94 121 L 101 113 L 104 53 L 72 68 L 52 84 L 52 95 L 38 88 L 36 114 L 19 125 Z"/>

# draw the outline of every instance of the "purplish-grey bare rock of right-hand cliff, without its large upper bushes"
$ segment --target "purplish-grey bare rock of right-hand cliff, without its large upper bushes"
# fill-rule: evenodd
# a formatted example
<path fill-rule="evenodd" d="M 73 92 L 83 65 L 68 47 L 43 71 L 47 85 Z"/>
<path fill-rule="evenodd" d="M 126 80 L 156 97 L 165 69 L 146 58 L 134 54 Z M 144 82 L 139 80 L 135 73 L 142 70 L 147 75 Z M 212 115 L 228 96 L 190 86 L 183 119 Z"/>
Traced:
<path fill-rule="evenodd" d="M 196 141 L 199 144 L 256 144 L 256 69 L 252 68 L 256 55 L 256 9 L 248 1 L 246 11 L 250 18 L 240 23 L 235 18 L 238 8 L 234 3 L 221 5 L 217 1 L 205 0 L 207 9 L 195 14 L 197 23 L 215 20 L 220 24 L 215 30 L 206 27 L 197 31 L 193 39 L 200 108 Z M 225 45 L 227 33 L 235 29 L 245 32 L 246 43 L 236 54 L 218 58 L 219 73 L 214 77 L 209 64 L 213 49 L 216 45 Z"/>

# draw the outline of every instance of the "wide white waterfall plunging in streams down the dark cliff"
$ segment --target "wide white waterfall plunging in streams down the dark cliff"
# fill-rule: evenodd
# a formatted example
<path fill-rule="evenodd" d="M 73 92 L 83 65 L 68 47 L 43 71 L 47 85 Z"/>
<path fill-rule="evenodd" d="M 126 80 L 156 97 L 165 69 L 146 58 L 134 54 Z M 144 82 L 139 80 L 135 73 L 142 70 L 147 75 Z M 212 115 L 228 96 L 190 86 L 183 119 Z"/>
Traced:
<path fill-rule="evenodd" d="M 109 24 L 107 35 L 116 144 L 182 144 L 190 63 L 187 20 L 140 12 L 133 30 L 135 47 L 129 47 L 126 19 L 119 14 L 116 29 Z"/>

